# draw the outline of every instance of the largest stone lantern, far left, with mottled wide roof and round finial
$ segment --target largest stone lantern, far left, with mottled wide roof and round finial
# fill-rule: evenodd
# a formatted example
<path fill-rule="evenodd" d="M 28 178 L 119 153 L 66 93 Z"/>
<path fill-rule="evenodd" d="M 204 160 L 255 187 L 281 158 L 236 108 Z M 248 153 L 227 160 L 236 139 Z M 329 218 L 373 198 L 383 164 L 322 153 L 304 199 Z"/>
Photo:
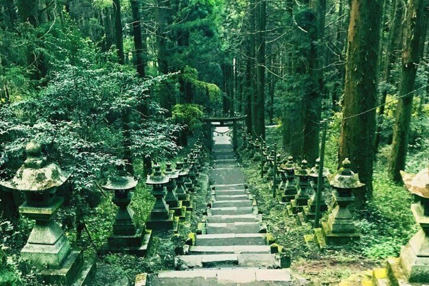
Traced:
<path fill-rule="evenodd" d="M 64 198 L 56 192 L 70 174 L 55 163 L 48 163 L 42 146 L 31 140 L 25 148 L 27 158 L 10 181 L 0 182 L 5 191 L 22 191 L 25 202 L 19 212 L 35 220 L 35 225 L 21 250 L 21 258 L 40 267 L 38 277 L 46 283 L 69 285 L 75 279 L 89 282 L 94 261 L 84 261 L 81 249 L 71 249 L 63 230 L 53 220 Z"/>

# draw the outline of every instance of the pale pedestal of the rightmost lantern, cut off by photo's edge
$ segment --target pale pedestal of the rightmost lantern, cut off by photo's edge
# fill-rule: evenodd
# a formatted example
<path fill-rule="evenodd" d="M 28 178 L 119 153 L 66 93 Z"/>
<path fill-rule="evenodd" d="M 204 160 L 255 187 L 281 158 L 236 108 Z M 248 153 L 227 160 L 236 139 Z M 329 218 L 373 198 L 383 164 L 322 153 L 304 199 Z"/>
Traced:
<path fill-rule="evenodd" d="M 400 261 L 409 282 L 429 283 L 429 217 L 420 203 L 411 205 L 420 229 L 402 249 Z"/>

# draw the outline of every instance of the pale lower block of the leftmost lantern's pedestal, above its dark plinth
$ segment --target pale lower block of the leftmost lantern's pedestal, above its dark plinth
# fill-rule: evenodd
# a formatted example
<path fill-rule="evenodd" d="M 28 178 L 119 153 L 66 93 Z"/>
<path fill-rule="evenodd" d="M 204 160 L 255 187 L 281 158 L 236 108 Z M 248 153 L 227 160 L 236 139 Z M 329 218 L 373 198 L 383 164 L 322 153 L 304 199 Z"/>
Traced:
<path fill-rule="evenodd" d="M 43 267 L 60 268 L 70 253 L 70 242 L 64 234 L 54 244 L 27 242 L 21 250 L 21 258 Z"/>

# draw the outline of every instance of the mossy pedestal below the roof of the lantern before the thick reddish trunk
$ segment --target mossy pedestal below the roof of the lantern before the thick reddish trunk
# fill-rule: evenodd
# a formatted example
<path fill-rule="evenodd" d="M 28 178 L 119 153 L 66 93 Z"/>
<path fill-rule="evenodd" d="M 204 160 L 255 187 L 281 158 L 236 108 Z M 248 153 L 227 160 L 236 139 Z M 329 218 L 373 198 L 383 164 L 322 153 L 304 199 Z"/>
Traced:
<path fill-rule="evenodd" d="M 338 190 L 333 191 L 337 206 L 329 215 L 328 222 L 322 222 L 321 230 L 327 244 L 344 244 L 360 238 L 353 224 L 348 205 L 354 201 L 353 194 L 340 196 Z"/>

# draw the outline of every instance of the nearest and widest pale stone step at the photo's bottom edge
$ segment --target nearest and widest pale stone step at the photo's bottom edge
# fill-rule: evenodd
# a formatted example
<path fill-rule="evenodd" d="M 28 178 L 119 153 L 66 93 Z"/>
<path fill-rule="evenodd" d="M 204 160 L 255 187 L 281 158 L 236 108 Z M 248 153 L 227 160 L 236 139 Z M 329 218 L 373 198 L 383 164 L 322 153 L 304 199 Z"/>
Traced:
<path fill-rule="evenodd" d="M 146 275 L 142 275 L 146 278 Z M 186 271 L 165 271 L 158 274 L 149 274 L 144 284 L 136 286 L 177 286 L 177 285 L 292 285 L 290 269 L 259 269 L 243 268 L 238 272 L 234 268 L 222 269 L 192 269 Z"/>

